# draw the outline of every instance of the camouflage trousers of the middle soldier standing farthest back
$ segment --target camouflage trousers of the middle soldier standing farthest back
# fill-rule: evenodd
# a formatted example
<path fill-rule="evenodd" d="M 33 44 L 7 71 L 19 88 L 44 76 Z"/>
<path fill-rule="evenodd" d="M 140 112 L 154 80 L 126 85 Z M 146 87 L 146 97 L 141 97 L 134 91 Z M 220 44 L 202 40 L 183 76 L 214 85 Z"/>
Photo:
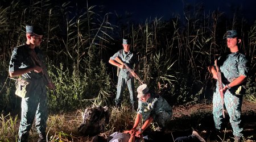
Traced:
<path fill-rule="evenodd" d="M 120 105 L 123 100 L 123 90 L 128 87 L 130 93 L 130 103 L 134 105 L 134 78 L 123 78 L 119 75 L 117 83 L 117 96 L 115 97 L 115 105 Z"/>

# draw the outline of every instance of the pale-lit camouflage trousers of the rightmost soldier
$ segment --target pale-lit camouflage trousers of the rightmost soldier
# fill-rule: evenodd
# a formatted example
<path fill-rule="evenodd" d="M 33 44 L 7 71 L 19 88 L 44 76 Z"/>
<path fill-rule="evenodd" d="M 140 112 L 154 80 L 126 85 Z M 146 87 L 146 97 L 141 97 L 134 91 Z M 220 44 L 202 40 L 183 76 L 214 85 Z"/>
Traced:
<path fill-rule="evenodd" d="M 242 137 L 243 128 L 241 127 L 241 108 L 242 108 L 242 95 L 236 96 L 230 93 L 229 90 L 224 94 L 224 108 L 228 111 L 229 122 L 233 128 L 233 135 Z M 222 122 L 224 121 L 222 115 L 222 101 L 221 96 L 216 88 L 213 94 L 213 120 L 216 130 L 221 130 Z"/>

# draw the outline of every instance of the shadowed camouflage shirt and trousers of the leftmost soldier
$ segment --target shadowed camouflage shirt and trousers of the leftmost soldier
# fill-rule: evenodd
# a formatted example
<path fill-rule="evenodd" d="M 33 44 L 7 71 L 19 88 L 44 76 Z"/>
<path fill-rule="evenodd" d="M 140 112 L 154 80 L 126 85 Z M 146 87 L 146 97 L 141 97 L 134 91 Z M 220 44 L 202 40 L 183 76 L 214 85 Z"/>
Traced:
<path fill-rule="evenodd" d="M 30 48 L 27 45 L 20 45 L 14 48 L 10 60 L 10 72 L 14 72 L 20 68 L 34 66 L 28 50 Z M 42 51 L 36 47 L 35 52 L 39 59 L 43 61 Z M 36 118 L 35 127 L 39 136 L 45 136 L 46 134 L 46 122 L 48 118 L 46 83 L 43 80 L 43 74 L 35 73 L 34 71 L 22 74 L 21 77 L 23 80 L 30 82 L 30 86 L 26 87 L 26 97 L 22 98 L 22 112 L 19 126 L 19 141 L 27 141 L 34 118 Z"/>

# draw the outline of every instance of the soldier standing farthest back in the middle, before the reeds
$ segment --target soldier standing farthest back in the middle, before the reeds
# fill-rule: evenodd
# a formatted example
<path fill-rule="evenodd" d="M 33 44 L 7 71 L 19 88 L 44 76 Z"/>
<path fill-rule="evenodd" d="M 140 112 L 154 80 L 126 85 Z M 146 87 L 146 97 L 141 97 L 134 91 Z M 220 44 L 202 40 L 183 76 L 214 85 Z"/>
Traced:
<path fill-rule="evenodd" d="M 118 74 L 118 83 L 117 83 L 117 95 L 115 97 L 115 106 L 121 105 L 121 101 L 123 99 L 123 90 L 125 87 L 128 87 L 130 93 L 130 103 L 135 108 L 135 88 L 134 88 L 134 77 L 131 76 L 129 71 L 125 68 L 125 65 L 119 64 L 115 61 L 115 57 L 118 57 L 122 62 L 126 63 L 131 69 L 137 70 L 139 67 L 138 57 L 130 51 L 130 39 L 123 39 L 123 49 L 119 50 L 109 59 L 109 63 L 120 68 L 120 72 Z M 134 67 L 135 65 L 135 67 Z"/>

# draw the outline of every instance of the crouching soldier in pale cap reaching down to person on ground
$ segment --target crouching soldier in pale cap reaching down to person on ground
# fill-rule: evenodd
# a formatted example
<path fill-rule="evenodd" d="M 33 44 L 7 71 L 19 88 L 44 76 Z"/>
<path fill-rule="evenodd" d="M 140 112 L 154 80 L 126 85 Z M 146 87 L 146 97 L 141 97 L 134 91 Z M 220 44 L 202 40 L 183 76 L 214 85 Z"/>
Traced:
<path fill-rule="evenodd" d="M 152 93 L 146 84 L 143 84 L 137 89 L 139 98 L 137 116 L 133 128 L 130 130 L 131 135 L 141 137 L 142 133 L 150 123 L 155 120 L 158 126 L 165 128 L 166 123 L 171 120 L 172 108 L 160 95 Z M 137 130 L 139 123 L 142 119 L 144 124 Z"/>

